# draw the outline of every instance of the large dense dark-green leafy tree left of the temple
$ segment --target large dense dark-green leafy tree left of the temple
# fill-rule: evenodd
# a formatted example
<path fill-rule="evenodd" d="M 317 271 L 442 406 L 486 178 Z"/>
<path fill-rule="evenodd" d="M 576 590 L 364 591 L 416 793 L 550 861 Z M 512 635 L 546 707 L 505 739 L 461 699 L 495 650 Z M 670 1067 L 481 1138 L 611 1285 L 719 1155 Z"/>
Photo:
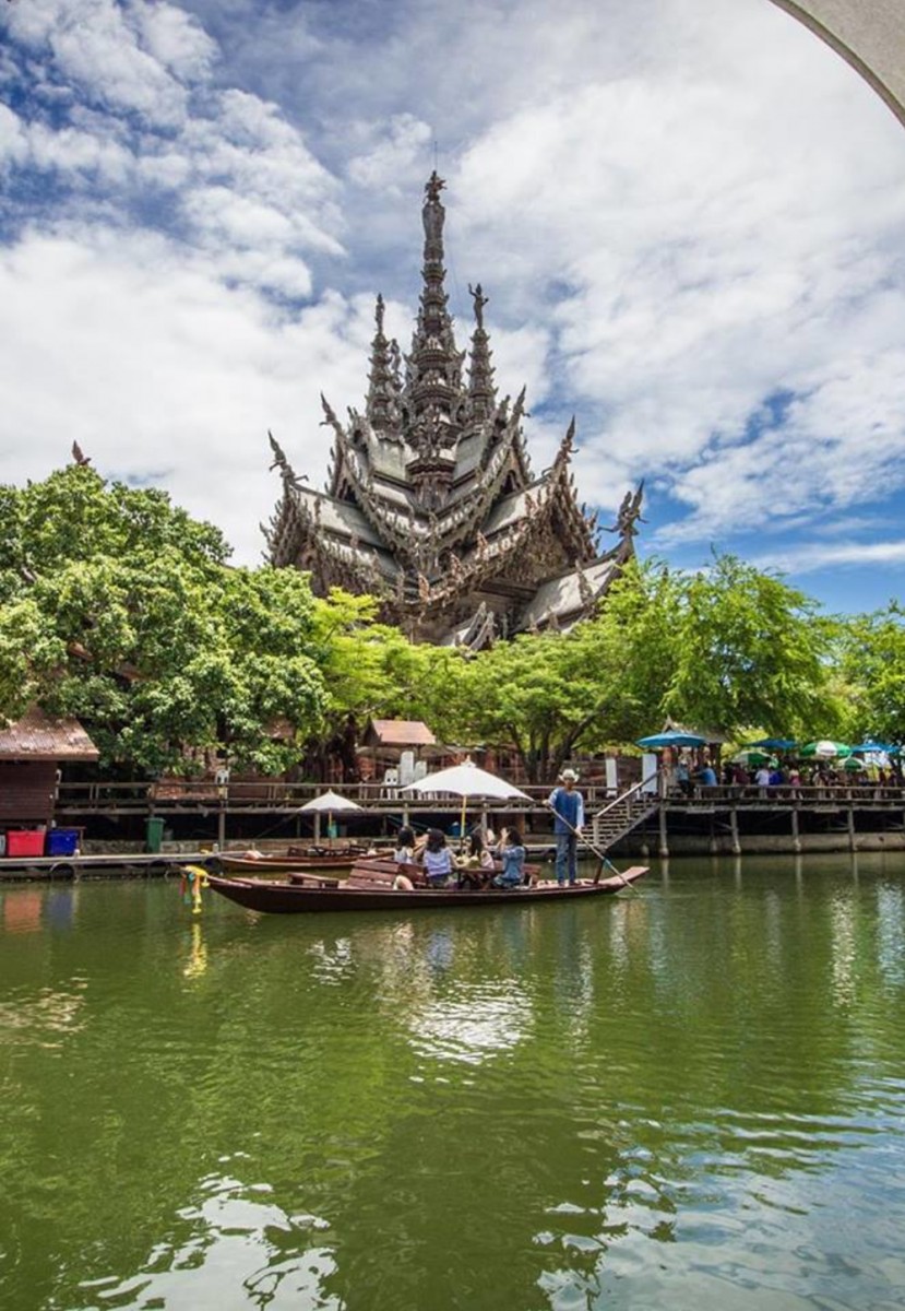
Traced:
<path fill-rule="evenodd" d="M 76 714 L 131 770 L 295 762 L 326 703 L 304 576 L 231 569 L 216 528 L 84 465 L 1 499 L 5 714 Z"/>

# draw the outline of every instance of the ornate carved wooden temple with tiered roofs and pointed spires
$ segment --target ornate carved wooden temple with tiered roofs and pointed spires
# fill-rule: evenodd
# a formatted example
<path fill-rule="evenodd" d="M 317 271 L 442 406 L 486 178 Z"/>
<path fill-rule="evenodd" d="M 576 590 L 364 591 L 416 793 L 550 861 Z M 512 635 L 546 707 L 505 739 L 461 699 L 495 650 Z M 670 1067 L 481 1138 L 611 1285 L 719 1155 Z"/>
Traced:
<path fill-rule="evenodd" d="M 496 637 L 567 628 L 601 602 L 633 555 L 642 488 L 629 493 L 601 552 L 596 515 L 578 503 L 575 422 L 557 456 L 532 473 L 523 417 L 498 396 L 487 298 L 478 286 L 468 353 L 458 350 L 444 287 L 440 199 L 424 187 L 424 266 L 411 351 L 376 332 L 364 412 L 342 422 L 321 397 L 334 443 L 327 486 L 316 492 L 270 437 L 283 490 L 265 528 L 275 565 L 310 570 L 316 593 L 369 593 L 381 617 L 419 641 L 473 650 Z"/>

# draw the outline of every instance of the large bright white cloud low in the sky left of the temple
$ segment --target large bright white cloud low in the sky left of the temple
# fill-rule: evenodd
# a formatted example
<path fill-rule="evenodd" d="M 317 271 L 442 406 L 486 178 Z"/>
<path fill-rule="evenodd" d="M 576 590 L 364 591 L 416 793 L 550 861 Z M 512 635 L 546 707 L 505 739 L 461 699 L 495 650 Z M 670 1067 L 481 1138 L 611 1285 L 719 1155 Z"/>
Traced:
<path fill-rule="evenodd" d="M 338 295 L 278 316 L 160 237 L 96 229 L 3 253 L 0 334 L 17 379 L 0 427 L 9 481 L 43 477 L 75 439 L 102 472 L 170 489 L 254 560 L 279 493 L 266 431 L 320 481 L 318 391 L 361 391 L 368 323 Z"/>

